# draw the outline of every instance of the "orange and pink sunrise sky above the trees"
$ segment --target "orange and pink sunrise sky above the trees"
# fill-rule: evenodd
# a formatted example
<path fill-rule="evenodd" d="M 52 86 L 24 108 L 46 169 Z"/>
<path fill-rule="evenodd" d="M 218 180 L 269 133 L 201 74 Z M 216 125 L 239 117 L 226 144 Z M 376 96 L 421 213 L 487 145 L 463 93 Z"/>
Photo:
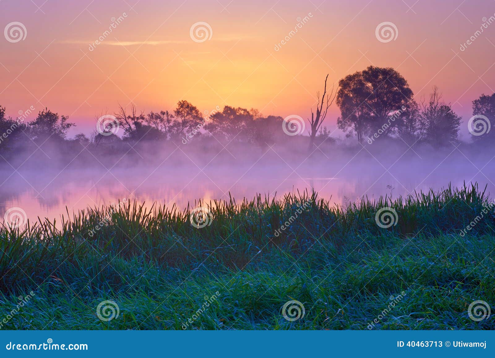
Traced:
<path fill-rule="evenodd" d="M 495 92 L 494 16 L 494 0 L 0 0 L 0 105 L 11 117 L 48 107 L 76 123 L 70 134 L 118 104 L 148 113 L 182 99 L 307 118 L 327 73 L 337 85 L 375 65 L 417 100 L 438 86 L 467 123 Z M 391 37 L 377 33 L 387 26 Z"/>

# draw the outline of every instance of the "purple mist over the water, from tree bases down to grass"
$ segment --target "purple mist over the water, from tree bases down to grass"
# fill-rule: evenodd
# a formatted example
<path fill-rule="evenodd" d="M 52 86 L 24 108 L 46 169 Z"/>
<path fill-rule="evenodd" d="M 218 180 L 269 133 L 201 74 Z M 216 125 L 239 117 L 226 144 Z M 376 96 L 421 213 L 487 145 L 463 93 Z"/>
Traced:
<path fill-rule="evenodd" d="M 468 144 L 435 149 L 396 142 L 326 144 L 312 154 L 306 137 L 289 137 L 272 147 L 243 143 L 175 145 L 147 142 L 127 153 L 81 152 L 59 148 L 17 153 L 0 166 L 0 211 L 22 208 L 30 222 L 59 220 L 88 207 L 119 200 L 153 203 L 181 210 L 206 203 L 237 202 L 256 194 L 273 198 L 315 190 L 335 204 L 363 197 L 407 196 L 477 182 L 495 192 L 493 156 Z M 33 169 L 34 168 L 34 169 Z M 481 170 L 481 171 L 480 171 Z M 214 204 L 213 204 L 214 205 Z"/>

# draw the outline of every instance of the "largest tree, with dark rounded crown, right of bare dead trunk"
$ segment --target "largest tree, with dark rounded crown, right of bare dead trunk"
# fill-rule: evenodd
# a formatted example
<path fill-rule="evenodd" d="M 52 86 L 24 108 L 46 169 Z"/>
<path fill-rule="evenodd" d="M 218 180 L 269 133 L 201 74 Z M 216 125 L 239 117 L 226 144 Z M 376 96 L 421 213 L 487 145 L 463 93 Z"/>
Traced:
<path fill-rule="evenodd" d="M 380 133 L 382 139 L 394 134 L 401 124 L 397 119 L 413 98 L 407 81 L 391 67 L 369 66 L 340 80 L 339 88 L 338 127 L 354 132 L 359 143 L 365 134 Z"/>

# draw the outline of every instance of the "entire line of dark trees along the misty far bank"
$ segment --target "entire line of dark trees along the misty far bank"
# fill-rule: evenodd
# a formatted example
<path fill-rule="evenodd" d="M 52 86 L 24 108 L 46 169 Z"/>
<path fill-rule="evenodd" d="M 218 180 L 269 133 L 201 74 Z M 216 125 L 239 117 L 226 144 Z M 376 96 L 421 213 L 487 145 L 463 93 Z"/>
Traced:
<path fill-rule="evenodd" d="M 322 127 L 333 103 L 341 112 L 338 128 L 360 144 L 397 139 L 409 145 L 418 142 L 438 147 L 458 140 L 462 118 L 444 101 L 437 87 L 427 98 L 416 100 L 407 81 L 395 69 L 375 66 L 347 75 L 335 90 L 327 89 L 327 80 L 328 75 L 323 93 L 317 92 L 316 111 L 311 110 L 311 117 L 307 118 L 307 133 L 301 133 L 308 134 L 310 150 L 315 143 L 335 141 L 328 129 Z M 482 94 L 473 101 L 472 108 L 473 116 L 488 120 L 474 122 L 475 132 L 484 129 L 483 135 L 473 135 L 475 141 L 493 139 L 495 131 L 490 132 L 490 119 L 495 118 L 495 93 Z M 0 106 L 0 152 L 22 145 L 40 146 L 47 141 L 104 146 L 149 140 L 186 144 L 209 138 L 221 143 L 246 142 L 265 147 L 288 139 L 282 131 L 284 118 L 280 116 L 265 117 L 253 108 L 231 106 L 203 114 L 186 100 L 180 100 L 172 112 L 148 114 L 138 111 L 133 104 L 130 109 L 119 105 L 115 113 L 96 117 L 97 130 L 91 135 L 81 133 L 71 139 L 67 133 L 75 124 L 67 116 L 46 108 L 32 121 L 25 117 L 26 113 L 15 119 L 7 117 L 5 107 Z M 483 125 L 488 128 L 478 128 Z"/>

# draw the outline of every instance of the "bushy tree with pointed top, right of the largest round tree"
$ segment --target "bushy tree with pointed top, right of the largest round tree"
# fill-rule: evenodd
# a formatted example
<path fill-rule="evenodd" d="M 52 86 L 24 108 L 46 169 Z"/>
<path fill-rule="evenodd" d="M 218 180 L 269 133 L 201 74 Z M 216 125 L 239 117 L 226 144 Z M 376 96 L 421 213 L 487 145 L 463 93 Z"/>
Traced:
<path fill-rule="evenodd" d="M 456 141 L 462 118 L 442 99 L 438 87 L 433 88 L 428 101 L 420 105 L 421 125 L 425 129 L 424 139 L 433 146 L 445 146 Z"/>

